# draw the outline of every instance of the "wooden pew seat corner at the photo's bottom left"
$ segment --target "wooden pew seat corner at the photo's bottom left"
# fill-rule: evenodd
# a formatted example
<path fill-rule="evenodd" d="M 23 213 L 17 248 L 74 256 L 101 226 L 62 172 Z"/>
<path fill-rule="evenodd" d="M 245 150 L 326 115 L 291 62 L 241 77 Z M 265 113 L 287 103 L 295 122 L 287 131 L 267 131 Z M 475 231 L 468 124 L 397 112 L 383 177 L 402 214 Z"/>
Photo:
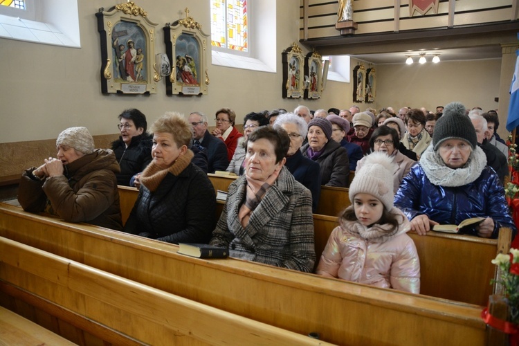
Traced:
<path fill-rule="evenodd" d="M 6 308 L 0 307 L 1 345 L 75 345 Z"/>

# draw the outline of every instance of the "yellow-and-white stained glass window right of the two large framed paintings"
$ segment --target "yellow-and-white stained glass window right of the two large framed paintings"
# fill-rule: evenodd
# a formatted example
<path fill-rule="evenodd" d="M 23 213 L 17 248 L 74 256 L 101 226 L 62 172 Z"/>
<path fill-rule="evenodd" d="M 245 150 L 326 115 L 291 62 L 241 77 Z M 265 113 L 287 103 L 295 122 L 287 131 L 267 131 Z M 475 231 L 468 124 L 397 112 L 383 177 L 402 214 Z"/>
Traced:
<path fill-rule="evenodd" d="M 248 51 L 247 0 L 211 1 L 211 44 Z"/>

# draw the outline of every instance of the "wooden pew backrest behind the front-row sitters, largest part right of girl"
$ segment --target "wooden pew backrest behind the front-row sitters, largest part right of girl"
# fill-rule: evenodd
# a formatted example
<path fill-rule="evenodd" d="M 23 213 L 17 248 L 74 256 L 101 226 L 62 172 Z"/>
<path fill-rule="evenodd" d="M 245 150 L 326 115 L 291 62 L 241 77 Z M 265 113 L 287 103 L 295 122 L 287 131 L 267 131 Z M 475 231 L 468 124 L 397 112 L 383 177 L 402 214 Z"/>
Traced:
<path fill-rule="evenodd" d="M 341 188 L 329 189 L 336 191 Z M 123 210 L 123 204 L 132 207 L 138 192 L 121 186 L 119 192 L 124 222 L 125 214 L 129 212 Z M 347 194 L 343 195 L 347 197 Z M 223 206 L 224 202 L 218 201 L 217 217 L 221 215 Z M 313 226 L 317 266 L 331 231 L 338 226 L 337 217 L 314 214 Z M 435 232 L 430 232 L 426 237 L 416 233 L 408 234 L 414 240 L 420 257 L 422 294 L 486 305 L 492 292 L 490 280 L 495 275 L 495 266 L 490 261 L 498 253 L 498 240 Z M 445 271 L 446 266 L 448 271 Z"/>

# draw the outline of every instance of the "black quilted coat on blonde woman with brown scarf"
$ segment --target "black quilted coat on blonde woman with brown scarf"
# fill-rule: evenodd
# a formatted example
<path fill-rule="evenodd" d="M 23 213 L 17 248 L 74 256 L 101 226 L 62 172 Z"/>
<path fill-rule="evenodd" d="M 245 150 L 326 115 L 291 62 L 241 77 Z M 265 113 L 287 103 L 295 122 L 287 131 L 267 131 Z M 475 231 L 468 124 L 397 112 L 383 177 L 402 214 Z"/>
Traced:
<path fill-rule="evenodd" d="M 168 173 L 155 192 L 140 185 L 125 232 L 168 243 L 208 243 L 215 229 L 216 194 L 199 167 Z"/>

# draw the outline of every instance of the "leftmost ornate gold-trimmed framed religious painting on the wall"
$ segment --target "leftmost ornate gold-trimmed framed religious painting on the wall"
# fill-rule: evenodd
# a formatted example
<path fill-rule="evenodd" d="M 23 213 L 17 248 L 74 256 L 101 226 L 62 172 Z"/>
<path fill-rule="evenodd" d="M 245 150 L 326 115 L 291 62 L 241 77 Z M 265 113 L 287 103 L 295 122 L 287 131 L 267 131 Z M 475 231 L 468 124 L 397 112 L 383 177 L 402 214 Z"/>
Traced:
<path fill-rule="evenodd" d="M 100 8 L 102 93 L 156 93 L 155 27 L 134 1 Z"/>

